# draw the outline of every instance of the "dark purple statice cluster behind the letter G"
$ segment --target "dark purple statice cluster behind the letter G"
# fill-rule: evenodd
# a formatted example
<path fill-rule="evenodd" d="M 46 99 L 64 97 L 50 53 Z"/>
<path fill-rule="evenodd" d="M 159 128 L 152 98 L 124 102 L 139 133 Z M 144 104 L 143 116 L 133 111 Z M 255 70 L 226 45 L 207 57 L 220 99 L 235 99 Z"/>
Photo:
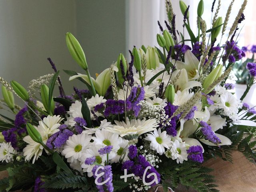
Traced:
<path fill-rule="evenodd" d="M 151 173 L 155 173 L 158 178 L 158 183 L 160 183 L 160 174 L 156 171 L 156 169 L 146 160 L 146 158 L 143 155 L 139 155 L 137 160 L 135 161 L 125 161 L 122 165 L 122 170 L 127 169 L 130 172 L 132 172 L 135 176 L 140 177 L 140 179 L 143 178 L 143 174 L 147 167 L 150 167 L 151 169 L 148 169 L 146 172 L 145 181 L 147 183 L 154 180 L 154 176 L 150 176 L 148 178 L 148 175 Z M 151 186 L 156 185 L 154 182 Z"/>

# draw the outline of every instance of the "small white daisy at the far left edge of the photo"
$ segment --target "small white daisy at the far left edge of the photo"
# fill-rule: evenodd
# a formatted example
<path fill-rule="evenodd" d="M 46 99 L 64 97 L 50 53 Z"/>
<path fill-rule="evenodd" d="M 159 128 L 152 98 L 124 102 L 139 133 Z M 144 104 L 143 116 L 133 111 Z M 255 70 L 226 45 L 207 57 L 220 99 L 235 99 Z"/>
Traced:
<path fill-rule="evenodd" d="M 0 161 L 9 163 L 13 161 L 13 155 L 17 154 L 17 151 L 14 150 L 11 143 L 0 143 Z"/>

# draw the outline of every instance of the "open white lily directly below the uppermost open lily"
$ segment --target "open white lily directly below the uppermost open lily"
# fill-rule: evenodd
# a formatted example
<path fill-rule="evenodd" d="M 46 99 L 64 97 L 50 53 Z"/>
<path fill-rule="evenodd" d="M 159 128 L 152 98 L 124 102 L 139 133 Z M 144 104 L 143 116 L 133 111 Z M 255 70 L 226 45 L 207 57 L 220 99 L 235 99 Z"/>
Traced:
<path fill-rule="evenodd" d="M 186 69 L 181 69 L 181 70 L 176 70 L 172 74 L 172 80 L 177 76 L 178 72 L 180 72 L 180 77 L 175 83 L 175 91 L 177 92 L 178 90 L 183 91 L 183 90 L 188 90 L 192 87 L 196 86 L 202 86 L 202 84 L 198 81 L 189 81 L 188 80 L 188 74 L 186 72 Z"/>

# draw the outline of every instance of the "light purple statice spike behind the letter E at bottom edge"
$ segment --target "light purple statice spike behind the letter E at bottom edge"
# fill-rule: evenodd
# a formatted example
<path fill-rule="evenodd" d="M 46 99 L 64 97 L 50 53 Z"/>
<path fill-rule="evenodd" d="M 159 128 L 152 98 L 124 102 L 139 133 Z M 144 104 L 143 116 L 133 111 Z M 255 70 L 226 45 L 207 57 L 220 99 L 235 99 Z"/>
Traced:
<path fill-rule="evenodd" d="M 96 170 L 98 169 L 98 165 L 94 166 L 94 168 L 92 168 L 92 173 L 93 173 L 93 176 L 94 178 L 97 178 L 97 176 L 95 175 L 95 172 Z M 104 172 L 104 175 L 102 175 L 100 178 L 98 178 L 98 182 L 103 182 L 105 180 L 108 179 L 108 182 L 106 182 L 106 184 L 104 185 L 96 185 L 96 188 L 99 190 L 99 192 L 105 192 L 105 191 L 108 191 L 108 192 L 113 192 L 114 191 L 114 187 L 113 187 L 113 183 L 112 183 L 112 180 L 113 180 L 113 174 L 112 174 L 112 167 L 111 165 L 107 165 L 107 166 L 104 166 L 104 169 L 99 169 L 98 170 L 98 174 Z M 102 180 L 103 178 L 103 180 Z"/>

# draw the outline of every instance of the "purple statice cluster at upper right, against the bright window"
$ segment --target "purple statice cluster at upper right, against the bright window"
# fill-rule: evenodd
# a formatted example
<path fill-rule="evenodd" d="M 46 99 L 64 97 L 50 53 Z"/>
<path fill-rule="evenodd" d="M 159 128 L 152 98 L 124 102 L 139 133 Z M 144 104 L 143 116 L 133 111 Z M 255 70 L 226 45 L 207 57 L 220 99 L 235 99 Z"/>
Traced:
<path fill-rule="evenodd" d="M 234 40 L 228 41 L 226 43 L 225 51 L 226 53 L 222 57 L 224 62 L 228 60 L 229 62 L 234 63 L 245 57 L 245 52 L 236 45 L 236 42 L 234 42 Z"/>

